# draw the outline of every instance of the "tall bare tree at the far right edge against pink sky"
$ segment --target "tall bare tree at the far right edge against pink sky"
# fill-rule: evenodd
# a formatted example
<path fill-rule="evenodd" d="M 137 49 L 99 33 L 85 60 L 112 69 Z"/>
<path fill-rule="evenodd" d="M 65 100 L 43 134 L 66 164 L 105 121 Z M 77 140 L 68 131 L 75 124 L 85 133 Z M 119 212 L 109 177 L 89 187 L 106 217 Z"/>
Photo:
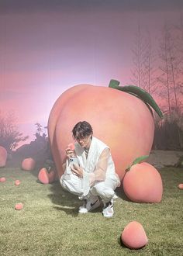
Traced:
<path fill-rule="evenodd" d="M 181 53 L 178 49 L 176 33 L 171 26 L 164 26 L 164 40 L 161 41 L 161 76 L 159 81 L 167 88 L 168 111 L 175 112 L 177 118 L 181 112 Z"/>

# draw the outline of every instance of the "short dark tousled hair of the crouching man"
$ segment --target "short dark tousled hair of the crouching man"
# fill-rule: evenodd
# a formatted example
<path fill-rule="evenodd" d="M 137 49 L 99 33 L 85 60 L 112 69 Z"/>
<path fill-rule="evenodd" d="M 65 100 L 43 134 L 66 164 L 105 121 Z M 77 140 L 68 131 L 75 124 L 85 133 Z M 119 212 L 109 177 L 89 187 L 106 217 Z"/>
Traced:
<path fill-rule="evenodd" d="M 92 134 L 93 130 L 88 122 L 82 121 L 74 126 L 72 133 L 75 139 L 82 139 Z"/>

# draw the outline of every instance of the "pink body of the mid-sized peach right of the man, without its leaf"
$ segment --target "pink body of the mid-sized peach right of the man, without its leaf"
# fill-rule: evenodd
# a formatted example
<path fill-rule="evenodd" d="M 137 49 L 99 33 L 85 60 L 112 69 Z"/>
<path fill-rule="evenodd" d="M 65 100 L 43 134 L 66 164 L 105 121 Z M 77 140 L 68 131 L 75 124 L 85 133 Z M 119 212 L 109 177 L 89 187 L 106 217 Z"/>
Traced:
<path fill-rule="evenodd" d="M 161 202 L 161 175 L 151 164 L 134 164 L 123 178 L 123 189 L 133 202 Z"/>

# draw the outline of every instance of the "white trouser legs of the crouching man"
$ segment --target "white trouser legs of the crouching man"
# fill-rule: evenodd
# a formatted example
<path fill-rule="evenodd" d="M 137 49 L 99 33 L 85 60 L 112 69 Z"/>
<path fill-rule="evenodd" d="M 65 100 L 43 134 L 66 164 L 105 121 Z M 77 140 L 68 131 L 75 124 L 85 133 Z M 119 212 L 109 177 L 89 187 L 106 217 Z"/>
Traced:
<path fill-rule="evenodd" d="M 114 190 L 120 185 L 119 178 L 116 174 L 108 175 L 104 182 L 97 182 L 94 186 L 88 189 L 88 195 L 84 194 L 83 179 L 76 175 L 62 175 L 60 184 L 64 189 L 74 195 L 78 195 L 80 199 L 88 198 L 90 195 L 98 195 L 103 202 L 109 202 L 114 196 Z"/>

